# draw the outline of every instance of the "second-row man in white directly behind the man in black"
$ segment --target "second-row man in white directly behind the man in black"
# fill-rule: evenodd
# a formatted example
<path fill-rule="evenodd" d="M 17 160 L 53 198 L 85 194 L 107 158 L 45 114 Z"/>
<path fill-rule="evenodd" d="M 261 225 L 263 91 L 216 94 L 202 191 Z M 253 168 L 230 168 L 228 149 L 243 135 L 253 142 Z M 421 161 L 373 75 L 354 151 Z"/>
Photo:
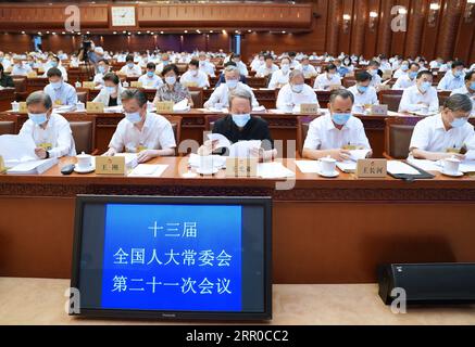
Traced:
<path fill-rule="evenodd" d="M 226 66 L 226 68 L 224 69 L 224 76 L 226 82 L 221 85 L 213 91 L 210 100 L 204 103 L 205 108 L 216 107 L 216 104 L 220 104 L 223 107 L 227 107 L 229 101 L 229 92 L 235 89 L 245 89 L 249 91 L 249 93 L 252 95 L 252 107 L 259 106 L 259 102 L 258 100 L 255 100 L 252 89 L 248 85 L 239 81 L 240 75 L 236 66 Z"/>

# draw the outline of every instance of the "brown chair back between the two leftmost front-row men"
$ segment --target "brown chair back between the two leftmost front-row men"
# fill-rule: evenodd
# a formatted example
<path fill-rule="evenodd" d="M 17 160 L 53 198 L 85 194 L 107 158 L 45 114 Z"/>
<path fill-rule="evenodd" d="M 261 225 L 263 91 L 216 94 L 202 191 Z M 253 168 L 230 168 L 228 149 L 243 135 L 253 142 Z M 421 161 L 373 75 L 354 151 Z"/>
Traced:
<path fill-rule="evenodd" d="M 96 155 L 96 117 L 92 115 L 65 115 L 70 121 L 77 153 Z"/>

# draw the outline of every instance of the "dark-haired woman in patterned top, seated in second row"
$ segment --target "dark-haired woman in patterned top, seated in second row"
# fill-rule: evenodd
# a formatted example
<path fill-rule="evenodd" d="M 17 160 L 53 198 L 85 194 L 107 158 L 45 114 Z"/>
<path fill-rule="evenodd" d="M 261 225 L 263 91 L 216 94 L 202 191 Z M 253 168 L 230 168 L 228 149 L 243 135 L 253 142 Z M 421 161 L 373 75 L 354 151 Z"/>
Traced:
<path fill-rule="evenodd" d="M 177 103 L 186 99 L 188 100 L 188 105 L 193 106 L 193 101 L 191 100 L 188 88 L 178 82 L 178 67 L 175 64 L 166 65 L 162 70 L 162 77 L 165 83 L 157 89 L 153 103 L 160 101 L 173 101 Z"/>

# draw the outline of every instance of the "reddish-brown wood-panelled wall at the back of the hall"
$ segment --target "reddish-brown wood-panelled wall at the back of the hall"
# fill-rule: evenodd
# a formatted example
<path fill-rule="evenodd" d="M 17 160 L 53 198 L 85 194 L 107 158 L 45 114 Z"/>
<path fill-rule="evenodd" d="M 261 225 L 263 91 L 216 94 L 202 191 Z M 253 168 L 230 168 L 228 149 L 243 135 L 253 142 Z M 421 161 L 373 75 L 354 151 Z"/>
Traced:
<path fill-rule="evenodd" d="M 263 49 L 268 49 L 275 52 L 292 50 L 316 51 L 317 53 L 329 52 L 332 54 L 345 51 L 363 54 L 366 57 L 372 57 L 378 53 L 388 55 L 402 54 L 405 56 L 422 54 L 427 59 L 440 55 L 445 59 L 459 57 L 467 62 L 475 62 L 475 18 L 466 22 L 463 17 L 467 0 L 313 0 L 310 2 L 304 8 L 305 20 L 296 23 L 291 23 L 292 21 L 286 17 L 285 14 L 288 14 L 290 17 L 300 16 L 300 14 L 296 14 L 298 11 L 302 11 L 303 8 L 300 8 L 300 5 L 296 8 L 298 11 L 292 10 L 292 5 L 279 4 L 277 9 L 280 12 L 260 12 L 262 16 L 272 16 L 273 18 L 263 20 L 261 23 L 255 22 L 255 14 L 249 10 L 251 8 L 246 9 L 242 5 L 239 7 L 241 12 L 238 12 L 241 17 L 237 16 L 238 18 L 233 17 L 233 20 L 230 11 L 223 10 L 223 5 L 221 5 L 220 11 L 215 8 L 210 8 L 214 10 L 203 10 L 200 12 L 196 5 L 187 8 L 182 4 L 174 12 L 175 18 L 179 15 L 188 15 L 189 18 L 187 20 L 188 22 L 182 20 L 176 23 L 171 21 L 166 23 L 157 22 L 158 20 L 147 11 L 140 10 L 138 12 L 138 15 L 141 13 L 138 28 L 141 28 L 142 31 L 146 29 L 145 26 L 155 31 L 165 30 L 165 35 L 157 36 L 147 36 L 143 33 L 142 35 L 124 36 L 121 35 L 121 29 L 116 29 L 118 35 L 112 35 L 114 28 L 111 28 L 107 21 L 107 11 L 104 10 L 107 4 L 95 5 L 88 12 L 85 12 L 84 15 L 87 16 L 85 23 L 90 26 L 91 33 L 97 33 L 96 38 L 101 38 L 101 44 L 105 49 L 114 51 L 123 49 L 146 50 L 152 49 L 155 46 L 167 50 L 190 51 L 197 48 L 200 50 L 215 51 L 224 49 L 227 51 L 230 47 L 234 29 L 239 29 L 242 37 L 241 52 L 245 56 L 250 56 Z M 440 7 L 434 16 L 433 23 L 428 21 L 430 3 L 438 3 Z M 205 7 L 207 4 L 203 5 Z M 396 16 L 391 14 L 391 9 L 395 5 L 408 9 L 407 31 L 395 33 L 391 29 L 391 23 Z M 26 5 L 16 5 L 18 9 L 21 7 L 24 8 Z M 152 9 L 150 7 L 153 5 L 147 4 L 147 7 L 150 10 Z M 236 10 L 237 8 L 233 9 Z M 22 11 L 24 13 L 24 10 Z M 370 12 L 372 11 L 378 13 L 378 17 L 374 21 L 370 18 Z M 14 8 L 7 11 L 3 4 L 0 5 L 0 20 L 3 21 L 0 21 L 0 30 L 2 26 L 4 30 L 9 30 L 7 35 L 2 35 L 0 31 L 0 50 L 24 51 L 30 49 L 32 42 L 29 36 L 12 34 L 12 27 L 20 31 L 22 28 L 27 30 L 32 25 L 43 28 L 48 25 L 45 21 L 22 22 L 18 20 L 21 16 L 15 13 Z M 158 8 L 153 8 L 153 11 L 150 13 L 164 15 L 164 12 L 159 11 Z M 279 15 L 276 13 L 279 13 Z M 218 18 L 213 20 L 213 14 Z M 343 14 L 351 17 L 347 29 L 343 29 Z M 310 15 L 310 18 L 307 17 L 308 15 Z M 16 18 L 16 24 L 7 28 L 4 22 L 9 16 Z M 32 14 L 29 14 L 28 18 Z M 275 21 L 278 23 L 279 16 L 282 17 L 282 22 L 279 22 L 280 27 L 277 27 Z M 473 13 L 473 17 L 475 17 L 475 13 Z M 200 18 L 203 22 L 199 22 Z M 57 23 L 54 21 L 54 18 L 51 20 L 52 28 L 61 22 L 57 21 Z M 26 25 L 24 24 L 25 22 L 29 24 Z M 233 22 L 235 26 L 230 27 Z M 370 26 L 370 22 L 374 23 L 373 27 Z M 101 29 L 102 31 L 98 28 L 100 26 L 104 27 Z M 208 34 L 167 35 L 166 30 L 171 30 L 173 26 L 176 26 L 175 29 L 186 27 L 189 31 L 201 28 L 203 33 Z M 222 34 L 221 29 L 223 27 L 228 27 L 227 33 L 229 34 Z M 214 29 L 214 34 L 209 34 L 210 29 Z M 101 33 L 99 34 L 99 31 Z M 135 31 L 137 31 L 137 28 Z M 175 33 L 177 31 L 175 30 Z M 76 49 L 78 44 L 79 38 L 68 35 L 45 35 L 43 37 L 43 48 L 46 50 L 58 50 L 61 48 L 65 51 L 71 51 Z"/>

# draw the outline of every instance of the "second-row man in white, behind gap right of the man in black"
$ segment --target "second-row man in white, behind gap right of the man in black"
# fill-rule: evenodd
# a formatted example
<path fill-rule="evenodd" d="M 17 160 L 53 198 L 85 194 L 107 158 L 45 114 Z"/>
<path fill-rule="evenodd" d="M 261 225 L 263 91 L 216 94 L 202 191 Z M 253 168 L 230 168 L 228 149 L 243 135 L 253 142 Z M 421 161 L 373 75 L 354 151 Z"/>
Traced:
<path fill-rule="evenodd" d="M 303 73 L 293 69 L 289 76 L 289 82 L 278 92 L 277 110 L 291 112 L 293 107 L 300 107 L 301 104 L 318 104 L 316 94 L 313 89 L 305 85 Z"/>

